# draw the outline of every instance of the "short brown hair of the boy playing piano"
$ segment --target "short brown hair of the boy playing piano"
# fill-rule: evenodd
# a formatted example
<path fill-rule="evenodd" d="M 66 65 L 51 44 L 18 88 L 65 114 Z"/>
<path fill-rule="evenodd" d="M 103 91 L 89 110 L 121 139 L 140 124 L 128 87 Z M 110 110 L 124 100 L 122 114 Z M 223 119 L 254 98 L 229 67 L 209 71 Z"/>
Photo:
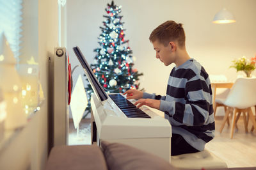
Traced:
<path fill-rule="evenodd" d="M 168 45 L 169 42 L 177 40 L 179 46 L 184 47 L 186 36 L 182 24 L 178 24 L 173 20 L 167 20 L 152 31 L 149 40 L 150 42 L 158 40 L 164 46 Z"/>

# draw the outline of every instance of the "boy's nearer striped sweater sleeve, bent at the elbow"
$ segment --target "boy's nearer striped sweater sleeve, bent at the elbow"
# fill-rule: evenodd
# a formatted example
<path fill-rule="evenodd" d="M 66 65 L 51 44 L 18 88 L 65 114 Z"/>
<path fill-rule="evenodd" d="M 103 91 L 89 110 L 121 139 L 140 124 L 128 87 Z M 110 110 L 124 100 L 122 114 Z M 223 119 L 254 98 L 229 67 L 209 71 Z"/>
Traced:
<path fill-rule="evenodd" d="M 202 77 L 193 77 L 185 86 L 185 104 L 161 100 L 159 109 L 183 125 L 203 125 L 213 112 L 210 88 Z"/>

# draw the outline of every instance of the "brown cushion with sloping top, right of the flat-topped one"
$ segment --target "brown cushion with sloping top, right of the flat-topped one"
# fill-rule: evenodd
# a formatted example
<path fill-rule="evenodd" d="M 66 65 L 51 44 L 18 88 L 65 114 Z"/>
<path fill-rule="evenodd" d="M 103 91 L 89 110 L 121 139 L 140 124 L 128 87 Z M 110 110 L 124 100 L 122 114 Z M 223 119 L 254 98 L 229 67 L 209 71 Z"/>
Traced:
<path fill-rule="evenodd" d="M 176 170 L 163 158 L 132 146 L 106 141 L 102 141 L 100 144 L 109 170 Z"/>

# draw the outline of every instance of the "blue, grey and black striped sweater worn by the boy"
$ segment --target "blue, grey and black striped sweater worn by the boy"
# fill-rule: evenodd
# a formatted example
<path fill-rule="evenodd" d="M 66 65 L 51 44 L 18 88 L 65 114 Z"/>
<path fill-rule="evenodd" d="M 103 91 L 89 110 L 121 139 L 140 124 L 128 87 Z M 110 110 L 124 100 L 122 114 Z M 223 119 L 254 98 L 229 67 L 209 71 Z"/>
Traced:
<path fill-rule="evenodd" d="M 189 59 L 170 73 L 166 96 L 144 93 L 143 98 L 161 100 L 160 110 L 170 121 L 172 133 L 180 134 L 196 150 L 214 137 L 211 82 L 204 67 Z"/>

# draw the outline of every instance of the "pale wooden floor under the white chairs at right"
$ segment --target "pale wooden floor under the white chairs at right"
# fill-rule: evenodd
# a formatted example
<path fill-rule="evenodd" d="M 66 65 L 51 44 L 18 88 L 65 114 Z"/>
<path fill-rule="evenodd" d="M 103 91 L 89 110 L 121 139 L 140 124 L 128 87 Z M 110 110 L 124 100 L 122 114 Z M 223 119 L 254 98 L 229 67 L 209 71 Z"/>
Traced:
<path fill-rule="evenodd" d="M 231 119 L 230 119 L 231 120 Z M 220 134 L 222 118 L 217 117 L 215 122 L 216 133 L 212 141 L 205 148 L 224 160 L 228 167 L 255 167 L 256 169 L 256 132 L 244 131 L 243 118 L 237 122 L 233 139 L 230 139 L 230 127 L 225 125 Z M 249 122 L 249 126 L 252 123 Z M 250 128 L 248 130 L 250 131 Z"/>

